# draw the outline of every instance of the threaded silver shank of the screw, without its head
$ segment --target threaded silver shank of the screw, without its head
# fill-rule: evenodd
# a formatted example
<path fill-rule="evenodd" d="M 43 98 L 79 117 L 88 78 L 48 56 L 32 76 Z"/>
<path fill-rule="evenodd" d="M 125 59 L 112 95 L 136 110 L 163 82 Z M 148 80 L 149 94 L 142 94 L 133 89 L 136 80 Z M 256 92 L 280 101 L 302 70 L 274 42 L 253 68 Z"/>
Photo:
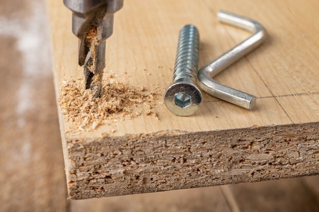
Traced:
<path fill-rule="evenodd" d="M 194 25 L 185 25 L 180 30 L 173 82 L 196 84 L 199 38 L 200 35 Z"/>

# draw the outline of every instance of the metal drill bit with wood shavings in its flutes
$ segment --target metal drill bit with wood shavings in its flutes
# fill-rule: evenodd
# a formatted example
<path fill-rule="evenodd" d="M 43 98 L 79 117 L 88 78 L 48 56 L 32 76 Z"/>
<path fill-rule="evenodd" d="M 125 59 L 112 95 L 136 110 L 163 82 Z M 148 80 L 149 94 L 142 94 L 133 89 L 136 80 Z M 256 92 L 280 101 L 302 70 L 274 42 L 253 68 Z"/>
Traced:
<path fill-rule="evenodd" d="M 102 94 L 105 41 L 113 32 L 113 15 L 124 0 L 63 0 L 72 14 L 72 32 L 78 41 L 78 65 L 84 66 L 85 88 Z"/>

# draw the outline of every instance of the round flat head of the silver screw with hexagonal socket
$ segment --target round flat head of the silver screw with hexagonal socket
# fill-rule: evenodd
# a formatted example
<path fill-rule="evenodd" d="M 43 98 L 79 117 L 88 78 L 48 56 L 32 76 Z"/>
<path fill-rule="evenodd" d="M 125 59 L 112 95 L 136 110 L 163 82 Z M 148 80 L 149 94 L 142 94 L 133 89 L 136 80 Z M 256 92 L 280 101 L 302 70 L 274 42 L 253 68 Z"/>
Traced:
<path fill-rule="evenodd" d="M 202 103 L 202 93 L 196 85 L 178 82 L 170 85 L 164 95 L 166 107 L 177 116 L 190 116 Z"/>

